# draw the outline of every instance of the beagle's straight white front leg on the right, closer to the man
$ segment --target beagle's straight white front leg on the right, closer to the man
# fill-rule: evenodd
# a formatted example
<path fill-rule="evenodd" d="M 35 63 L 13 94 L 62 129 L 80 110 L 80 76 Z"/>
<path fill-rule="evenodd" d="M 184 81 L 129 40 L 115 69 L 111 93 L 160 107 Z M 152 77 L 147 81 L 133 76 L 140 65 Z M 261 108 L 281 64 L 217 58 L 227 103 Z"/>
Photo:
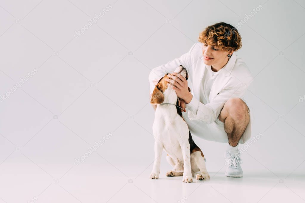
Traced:
<path fill-rule="evenodd" d="M 192 183 L 192 168 L 191 168 L 191 151 L 188 140 L 182 140 L 180 143 L 182 156 L 183 156 L 183 178 L 182 181 L 185 183 Z"/>

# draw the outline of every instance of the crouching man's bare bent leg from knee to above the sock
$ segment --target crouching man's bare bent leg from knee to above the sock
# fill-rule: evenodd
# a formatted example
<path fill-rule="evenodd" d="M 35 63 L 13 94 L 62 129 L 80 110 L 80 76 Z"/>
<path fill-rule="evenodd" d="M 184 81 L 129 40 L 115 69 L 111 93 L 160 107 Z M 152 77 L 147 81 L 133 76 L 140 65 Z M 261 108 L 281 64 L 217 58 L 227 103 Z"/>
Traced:
<path fill-rule="evenodd" d="M 224 130 L 228 134 L 229 144 L 237 146 L 249 121 L 249 108 L 241 98 L 231 98 L 221 110 L 219 120 L 224 122 Z"/>

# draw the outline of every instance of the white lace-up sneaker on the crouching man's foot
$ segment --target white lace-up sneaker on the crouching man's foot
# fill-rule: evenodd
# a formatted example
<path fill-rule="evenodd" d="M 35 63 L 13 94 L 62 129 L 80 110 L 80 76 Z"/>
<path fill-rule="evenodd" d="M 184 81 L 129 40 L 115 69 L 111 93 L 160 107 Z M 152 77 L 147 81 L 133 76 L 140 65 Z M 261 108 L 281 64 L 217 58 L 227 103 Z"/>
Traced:
<path fill-rule="evenodd" d="M 240 167 L 242 160 L 240 159 L 239 150 L 227 150 L 225 160 L 225 165 L 228 166 L 225 175 L 228 177 L 242 177 L 243 171 Z"/>

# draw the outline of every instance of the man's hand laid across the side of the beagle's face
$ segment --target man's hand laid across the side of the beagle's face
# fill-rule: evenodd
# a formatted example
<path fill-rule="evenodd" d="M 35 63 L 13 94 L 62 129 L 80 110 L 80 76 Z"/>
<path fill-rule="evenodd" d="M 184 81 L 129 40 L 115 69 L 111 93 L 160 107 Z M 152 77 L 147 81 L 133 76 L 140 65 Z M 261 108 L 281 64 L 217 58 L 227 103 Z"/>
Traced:
<path fill-rule="evenodd" d="M 175 72 L 168 74 L 167 76 L 171 79 L 167 78 L 166 81 L 168 81 L 169 85 L 176 91 L 177 96 L 185 101 L 183 103 L 188 104 L 193 97 L 188 91 L 188 81 L 181 74 Z"/>

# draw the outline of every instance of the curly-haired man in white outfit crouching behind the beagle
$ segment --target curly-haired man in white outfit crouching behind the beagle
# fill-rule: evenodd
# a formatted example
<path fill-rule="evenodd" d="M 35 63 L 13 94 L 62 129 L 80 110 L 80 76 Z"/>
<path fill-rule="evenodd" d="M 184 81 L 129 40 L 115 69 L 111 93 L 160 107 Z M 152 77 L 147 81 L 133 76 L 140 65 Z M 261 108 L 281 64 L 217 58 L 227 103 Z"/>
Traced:
<path fill-rule="evenodd" d="M 206 27 L 198 41 L 181 57 L 152 69 L 150 94 L 162 76 L 172 73 L 168 81 L 183 112 L 188 109 L 184 118 L 192 135 L 228 143 L 225 175 L 242 177 L 238 145 L 251 137 L 250 110 L 243 96 L 253 77 L 235 53 L 242 46 L 241 36 L 233 26 L 220 22 Z M 179 65 L 188 70 L 188 81 L 173 72 Z"/>

